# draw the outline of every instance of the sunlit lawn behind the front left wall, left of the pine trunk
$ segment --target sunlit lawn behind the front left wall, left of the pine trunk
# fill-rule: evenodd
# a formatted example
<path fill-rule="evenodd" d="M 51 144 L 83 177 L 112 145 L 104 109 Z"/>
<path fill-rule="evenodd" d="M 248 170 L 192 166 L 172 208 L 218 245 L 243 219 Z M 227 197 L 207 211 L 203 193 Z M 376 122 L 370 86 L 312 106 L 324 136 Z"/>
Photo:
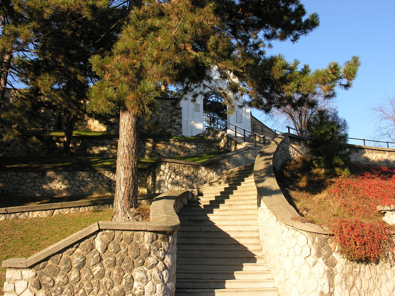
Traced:
<path fill-rule="evenodd" d="M 45 218 L 0 222 L 0 262 L 29 257 L 96 221 L 110 221 L 113 210 L 63 214 Z M 0 268 L 0 295 L 6 268 Z"/>

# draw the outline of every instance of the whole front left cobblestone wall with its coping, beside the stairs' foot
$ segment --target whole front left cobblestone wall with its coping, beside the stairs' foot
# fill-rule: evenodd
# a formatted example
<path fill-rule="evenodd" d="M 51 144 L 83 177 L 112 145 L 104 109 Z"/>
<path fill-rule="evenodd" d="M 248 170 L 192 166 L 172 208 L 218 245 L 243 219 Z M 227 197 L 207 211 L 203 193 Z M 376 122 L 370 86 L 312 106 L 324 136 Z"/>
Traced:
<path fill-rule="evenodd" d="M 193 198 L 161 195 L 149 223 L 99 221 L 29 258 L 3 261 L 4 296 L 174 295 L 176 212 Z"/>

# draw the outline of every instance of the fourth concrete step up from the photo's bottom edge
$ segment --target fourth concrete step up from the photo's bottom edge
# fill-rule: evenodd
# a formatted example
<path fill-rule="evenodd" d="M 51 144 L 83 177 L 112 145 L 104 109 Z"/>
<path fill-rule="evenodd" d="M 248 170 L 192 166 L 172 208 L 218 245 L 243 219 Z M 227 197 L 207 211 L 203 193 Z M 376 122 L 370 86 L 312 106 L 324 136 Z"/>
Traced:
<path fill-rule="evenodd" d="M 213 264 L 208 262 L 177 262 L 177 271 L 178 270 L 206 270 L 206 271 L 268 271 L 266 263 L 234 263 L 234 262 L 223 262 L 220 264 Z"/>

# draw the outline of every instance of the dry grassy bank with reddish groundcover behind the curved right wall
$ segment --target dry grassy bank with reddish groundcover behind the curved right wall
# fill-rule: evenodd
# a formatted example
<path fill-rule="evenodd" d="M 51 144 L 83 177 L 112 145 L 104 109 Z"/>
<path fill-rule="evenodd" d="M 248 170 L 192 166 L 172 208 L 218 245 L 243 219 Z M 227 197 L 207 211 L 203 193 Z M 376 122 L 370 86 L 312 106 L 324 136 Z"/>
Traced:
<path fill-rule="evenodd" d="M 355 165 L 347 175 L 327 177 L 314 174 L 306 164 L 292 162 L 276 177 L 295 210 L 318 225 L 352 218 L 382 222 L 376 206 L 395 202 L 393 168 Z"/>

